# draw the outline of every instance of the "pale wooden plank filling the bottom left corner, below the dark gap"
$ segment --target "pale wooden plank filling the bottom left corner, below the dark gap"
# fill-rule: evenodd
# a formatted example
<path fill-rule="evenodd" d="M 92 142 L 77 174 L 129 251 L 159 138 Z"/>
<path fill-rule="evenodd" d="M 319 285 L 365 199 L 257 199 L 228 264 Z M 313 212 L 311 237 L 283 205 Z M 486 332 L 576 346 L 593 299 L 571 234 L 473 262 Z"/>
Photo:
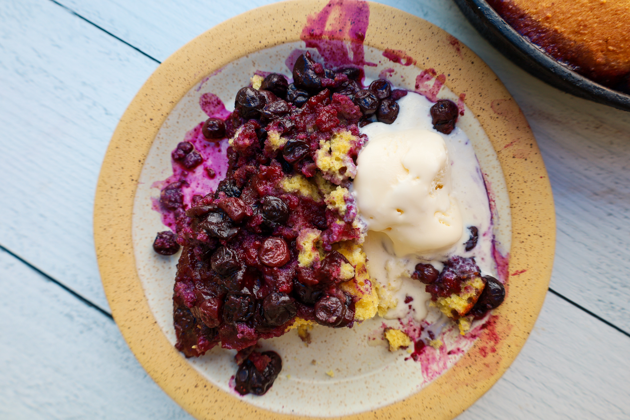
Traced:
<path fill-rule="evenodd" d="M 116 324 L 0 251 L 1 419 L 192 419 Z"/>

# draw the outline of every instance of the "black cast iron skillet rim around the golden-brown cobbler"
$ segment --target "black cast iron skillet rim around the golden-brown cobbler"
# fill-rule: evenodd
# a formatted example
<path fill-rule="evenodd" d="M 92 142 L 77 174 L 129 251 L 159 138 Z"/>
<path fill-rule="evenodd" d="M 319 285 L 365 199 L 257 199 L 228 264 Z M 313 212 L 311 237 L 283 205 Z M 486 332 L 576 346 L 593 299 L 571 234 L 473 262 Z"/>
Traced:
<path fill-rule="evenodd" d="M 559 64 L 515 31 L 486 1 L 455 0 L 455 3 L 488 42 L 532 76 L 580 98 L 630 111 L 630 95 L 606 88 Z"/>

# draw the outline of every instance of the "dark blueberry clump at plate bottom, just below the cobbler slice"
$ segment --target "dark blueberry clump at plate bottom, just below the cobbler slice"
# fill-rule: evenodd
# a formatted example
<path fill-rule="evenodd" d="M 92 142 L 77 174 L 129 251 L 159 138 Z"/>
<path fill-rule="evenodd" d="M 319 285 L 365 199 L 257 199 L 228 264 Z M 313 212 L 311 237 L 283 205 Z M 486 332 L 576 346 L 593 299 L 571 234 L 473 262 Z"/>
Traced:
<path fill-rule="evenodd" d="M 262 372 L 251 361 L 254 359 L 253 352 L 247 360 L 239 366 L 234 376 L 234 389 L 241 395 L 254 394 L 263 395 L 273 385 L 273 381 L 278 377 L 282 370 L 282 359 L 275 351 L 264 351 L 262 356 L 266 356 L 266 363 Z M 258 363 L 258 365 L 261 365 Z"/>

